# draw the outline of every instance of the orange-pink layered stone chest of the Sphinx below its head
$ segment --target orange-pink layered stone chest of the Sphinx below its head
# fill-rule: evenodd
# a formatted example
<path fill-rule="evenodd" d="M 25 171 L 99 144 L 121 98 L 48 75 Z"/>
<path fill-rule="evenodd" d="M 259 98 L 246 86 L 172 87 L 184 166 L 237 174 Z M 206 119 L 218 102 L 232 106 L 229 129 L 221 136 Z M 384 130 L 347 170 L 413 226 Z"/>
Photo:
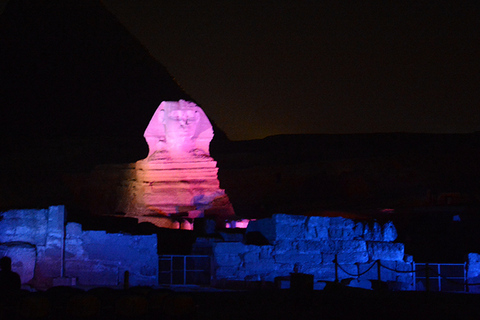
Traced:
<path fill-rule="evenodd" d="M 216 218 L 232 218 L 233 208 L 220 189 L 217 172 L 211 157 L 138 161 L 129 188 L 135 192 L 135 206 L 127 216 L 148 222 L 157 218 L 163 220 L 162 226 L 164 217 L 194 219 L 211 212 Z"/>

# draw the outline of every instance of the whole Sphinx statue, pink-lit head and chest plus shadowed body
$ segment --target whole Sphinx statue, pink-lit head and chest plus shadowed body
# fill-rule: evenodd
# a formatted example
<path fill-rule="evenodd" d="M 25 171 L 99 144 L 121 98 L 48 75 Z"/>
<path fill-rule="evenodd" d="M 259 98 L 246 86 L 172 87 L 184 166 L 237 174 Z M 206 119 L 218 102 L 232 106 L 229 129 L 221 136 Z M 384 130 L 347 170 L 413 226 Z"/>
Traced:
<path fill-rule="evenodd" d="M 185 100 L 163 101 L 144 132 L 145 159 L 98 166 L 86 190 L 92 212 L 136 218 L 161 228 L 192 228 L 197 218 L 238 220 L 220 188 L 210 156 L 213 128 L 203 110 Z M 101 201 L 99 201 L 101 199 Z"/>

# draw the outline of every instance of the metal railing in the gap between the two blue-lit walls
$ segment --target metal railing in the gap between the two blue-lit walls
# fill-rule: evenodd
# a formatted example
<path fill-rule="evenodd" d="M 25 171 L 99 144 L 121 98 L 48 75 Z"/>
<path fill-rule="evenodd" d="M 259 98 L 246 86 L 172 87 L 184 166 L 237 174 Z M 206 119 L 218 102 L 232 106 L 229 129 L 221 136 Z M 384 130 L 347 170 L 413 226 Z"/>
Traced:
<path fill-rule="evenodd" d="M 159 284 L 209 285 L 211 257 L 204 255 L 162 255 L 159 257 Z"/>

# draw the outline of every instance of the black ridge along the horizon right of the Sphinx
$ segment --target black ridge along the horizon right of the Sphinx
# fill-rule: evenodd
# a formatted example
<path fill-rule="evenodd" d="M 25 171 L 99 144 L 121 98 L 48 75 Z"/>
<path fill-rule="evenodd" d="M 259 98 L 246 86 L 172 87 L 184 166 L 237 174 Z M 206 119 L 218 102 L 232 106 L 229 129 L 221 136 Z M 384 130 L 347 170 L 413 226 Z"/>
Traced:
<path fill-rule="evenodd" d="M 373 134 L 294 134 L 264 139 L 230 141 L 222 152 L 230 161 L 225 166 L 293 164 L 405 155 L 454 155 L 480 150 L 480 133 L 373 133 Z M 238 155 L 249 155 L 251 162 L 235 163 Z M 222 157 L 222 154 L 219 155 Z"/>

